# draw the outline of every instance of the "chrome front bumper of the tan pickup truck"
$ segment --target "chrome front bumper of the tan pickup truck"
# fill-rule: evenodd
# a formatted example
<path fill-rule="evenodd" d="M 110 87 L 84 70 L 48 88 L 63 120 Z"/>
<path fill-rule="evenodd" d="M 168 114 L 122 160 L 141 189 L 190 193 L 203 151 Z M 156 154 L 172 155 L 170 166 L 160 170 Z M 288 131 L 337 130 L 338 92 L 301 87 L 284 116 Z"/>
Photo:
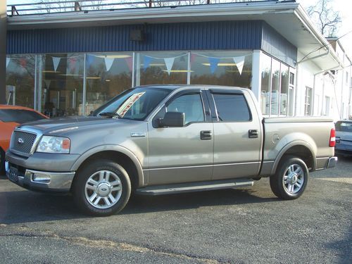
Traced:
<path fill-rule="evenodd" d="M 20 187 L 37 191 L 68 192 L 70 191 L 75 172 L 44 172 L 25 170 L 19 172 L 11 169 L 11 164 L 5 163 L 6 177 Z"/>

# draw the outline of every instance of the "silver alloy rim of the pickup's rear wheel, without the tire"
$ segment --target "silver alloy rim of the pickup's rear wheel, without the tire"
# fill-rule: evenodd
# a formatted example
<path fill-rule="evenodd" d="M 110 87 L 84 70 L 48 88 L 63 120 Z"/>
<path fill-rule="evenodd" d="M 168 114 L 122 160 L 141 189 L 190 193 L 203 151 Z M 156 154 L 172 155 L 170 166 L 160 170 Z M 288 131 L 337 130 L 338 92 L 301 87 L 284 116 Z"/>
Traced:
<path fill-rule="evenodd" d="M 282 184 L 289 194 L 296 194 L 303 186 L 304 171 L 298 164 L 290 165 L 284 172 Z"/>

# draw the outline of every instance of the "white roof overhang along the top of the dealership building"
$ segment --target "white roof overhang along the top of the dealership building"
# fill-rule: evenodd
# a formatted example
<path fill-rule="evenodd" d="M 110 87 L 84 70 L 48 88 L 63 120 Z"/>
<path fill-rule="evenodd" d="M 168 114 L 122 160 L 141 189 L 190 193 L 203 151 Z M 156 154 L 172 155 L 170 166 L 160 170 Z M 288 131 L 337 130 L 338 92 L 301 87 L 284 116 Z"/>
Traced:
<path fill-rule="evenodd" d="M 15 15 L 8 17 L 8 30 L 221 20 L 264 20 L 306 56 L 301 63 L 310 59 L 320 70 L 341 68 L 342 63 L 327 39 L 294 1 Z"/>

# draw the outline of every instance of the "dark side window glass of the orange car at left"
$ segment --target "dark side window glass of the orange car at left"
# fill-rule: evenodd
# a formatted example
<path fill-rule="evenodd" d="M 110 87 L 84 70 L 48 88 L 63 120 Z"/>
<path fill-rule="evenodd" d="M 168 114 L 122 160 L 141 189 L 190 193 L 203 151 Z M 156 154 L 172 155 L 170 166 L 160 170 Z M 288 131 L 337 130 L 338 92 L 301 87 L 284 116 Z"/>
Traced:
<path fill-rule="evenodd" d="M 39 115 L 39 113 L 34 111 L 23 109 L 0 109 L 0 120 L 2 122 L 18 122 L 19 124 L 22 124 L 24 122 L 41 119 L 45 119 L 44 116 Z"/>

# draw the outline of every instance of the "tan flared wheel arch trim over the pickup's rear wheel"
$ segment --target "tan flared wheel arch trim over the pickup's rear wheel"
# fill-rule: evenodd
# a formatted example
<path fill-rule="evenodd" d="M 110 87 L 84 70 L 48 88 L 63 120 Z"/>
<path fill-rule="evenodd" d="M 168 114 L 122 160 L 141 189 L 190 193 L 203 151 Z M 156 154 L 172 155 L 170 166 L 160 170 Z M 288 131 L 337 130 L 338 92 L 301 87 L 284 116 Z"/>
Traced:
<path fill-rule="evenodd" d="M 272 166 L 271 175 L 274 175 L 277 166 L 286 156 L 295 156 L 301 158 L 301 160 L 306 163 L 308 170 L 314 171 L 316 168 L 315 151 L 312 146 L 307 142 L 296 141 L 287 144 L 277 155 L 274 165 Z"/>

